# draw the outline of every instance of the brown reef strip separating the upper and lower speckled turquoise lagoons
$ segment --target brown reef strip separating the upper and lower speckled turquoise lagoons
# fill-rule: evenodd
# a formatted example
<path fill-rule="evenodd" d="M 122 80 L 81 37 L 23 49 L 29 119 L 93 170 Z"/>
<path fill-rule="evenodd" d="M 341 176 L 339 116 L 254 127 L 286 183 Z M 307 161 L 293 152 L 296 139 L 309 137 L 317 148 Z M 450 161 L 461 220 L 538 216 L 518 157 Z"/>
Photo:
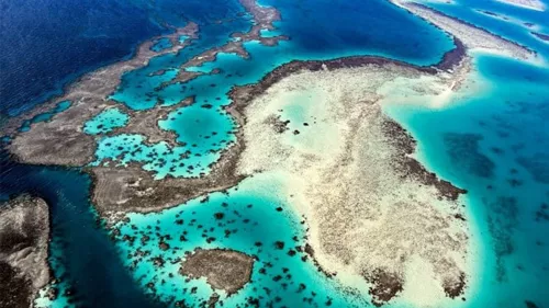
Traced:
<path fill-rule="evenodd" d="M 103 218 L 112 220 L 127 212 L 157 212 L 210 192 L 227 190 L 245 178 L 235 171 L 243 146 L 239 141 L 232 145 L 212 166 L 211 172 L 201 178 L 155 180 L 137 164 L 91 168 L 93 204 Z"/>

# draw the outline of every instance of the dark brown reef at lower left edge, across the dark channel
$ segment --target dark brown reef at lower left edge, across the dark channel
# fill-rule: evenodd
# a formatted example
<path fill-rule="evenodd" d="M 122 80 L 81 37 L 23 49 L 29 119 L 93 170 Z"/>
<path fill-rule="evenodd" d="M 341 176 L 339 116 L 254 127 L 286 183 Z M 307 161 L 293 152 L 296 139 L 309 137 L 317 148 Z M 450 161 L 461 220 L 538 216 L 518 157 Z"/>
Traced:
<path fill-rule="evenodd" d="M 43 199 L 23 195 L 0 205 L 0 307 L 33 307 L 49 282 L 48 240 Z"/>

